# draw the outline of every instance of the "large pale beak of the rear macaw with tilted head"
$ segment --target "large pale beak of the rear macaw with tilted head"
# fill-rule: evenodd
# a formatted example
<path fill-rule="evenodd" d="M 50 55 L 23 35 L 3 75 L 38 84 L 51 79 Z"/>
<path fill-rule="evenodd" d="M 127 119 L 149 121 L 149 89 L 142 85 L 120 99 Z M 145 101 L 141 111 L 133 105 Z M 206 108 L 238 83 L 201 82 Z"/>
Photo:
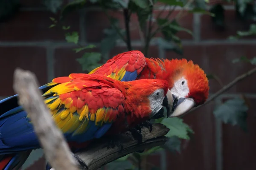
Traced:
<path fill-rule="evenodd" d="M 172 94 L 172 98 L 172 111 L 169 115 L 167 115 L 167 117 L 177 117 L 183 115 L 195 106 L 193 99 L 175 96 L 174 94 Z"/>

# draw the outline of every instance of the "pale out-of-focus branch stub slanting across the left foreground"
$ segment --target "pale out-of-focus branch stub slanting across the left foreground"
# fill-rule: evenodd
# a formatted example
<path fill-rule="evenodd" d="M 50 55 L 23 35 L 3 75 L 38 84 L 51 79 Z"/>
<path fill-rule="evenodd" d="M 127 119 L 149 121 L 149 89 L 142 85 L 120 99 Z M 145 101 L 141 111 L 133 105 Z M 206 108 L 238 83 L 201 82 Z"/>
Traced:
<path fill-rule="evenodd" d="M 55 170 L 79 170 L 76 161 L 70 155 L 64 136 L 56 127 L 43 102 L 38 87 L 35 74 L 19 68 L 15 70 L 13 88 L 19 95 L 19 104 L 32 120 L 35 133 L 44 148 L 46 159 Z"/>

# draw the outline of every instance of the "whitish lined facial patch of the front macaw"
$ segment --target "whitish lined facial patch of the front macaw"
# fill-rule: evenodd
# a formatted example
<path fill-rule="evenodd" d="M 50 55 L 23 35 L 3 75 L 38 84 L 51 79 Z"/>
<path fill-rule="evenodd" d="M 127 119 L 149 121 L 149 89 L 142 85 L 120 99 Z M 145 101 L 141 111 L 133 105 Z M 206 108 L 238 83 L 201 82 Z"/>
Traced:
<path fill-rule="evenodd" d="M 163 89 L 157 89 L 153 94 L 148 96 L 150 102 L 150 108 L 152 116 L 160 111 L 163 107 L 164 91 Z"/>

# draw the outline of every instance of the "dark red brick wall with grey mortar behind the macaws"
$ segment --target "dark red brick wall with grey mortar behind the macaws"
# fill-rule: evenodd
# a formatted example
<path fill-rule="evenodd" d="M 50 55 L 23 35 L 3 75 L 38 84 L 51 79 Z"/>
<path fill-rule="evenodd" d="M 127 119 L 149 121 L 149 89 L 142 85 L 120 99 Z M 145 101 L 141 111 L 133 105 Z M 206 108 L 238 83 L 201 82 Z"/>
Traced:
<path fill-rule="evenodd" d="M 41 85 L 49 82 L 54 77 L 67 76 L 70 73 L 81 72 L 81 67 L 76 58 L 81 54 L 71 51 L 72 44 L 64 40 L 64 32 L 58 28 L 49 29 L 49 17 L 55 17 L 45 11 L 37 1 L 21 0 L 23 7 L 6 23 L 0 23 L 0 72 L 2 73 L 1 98 L 13 95 L 12 76 L 16 67 L 29 69 L 35 72 Z M 216 3 L 216 1 L 215 1 Z M 179 56 L 168 48 L 158 44 L 156 40 L 151 43 L 149 57 L 192 59 L 207 73 L 215 73 L 224 84 L 227 84 L 239 74 L 252 68 L 249 64 L 232 64 L 232 59 L 246 55 L 254 57 L 256 54 L 256 40 L 246 38 L 236 42 L 227 40 L 229 35 L 238 29 L 246 29 L 247 25 L 236 19 L 234 6 L 225 6 L 226 30 L 216 30 L 211 18 L 207 15 L 189 14 L 179 23 L 194 31 L 194 37 L 186 33 L 179 33 L 184 45 L 184 55 Z M 159 11 L 155 11 L 158 13 Z M 175 11 L 175 13 L 177 13 Z M 120 20 L 122 13 L 111 12 Z M 173 17 L 173 16 L 170 16 Z M 141 50 L 136 17 L 131 18 L 131 38 L 133 49 Z M 65 21 L 71 25 L 71 30 L 79 31 L 81 43 L 90 42 L 98 44 L 104 37 L 102 30 L 110 25 L 105 14 L 98 8 L 71 14 Z M 121 26 L 124 27 L 123 22 Z M 159 36 L 161 36 L 159 34 Z M 109 57 L 126 51 L 124 43 L 118 43 L 109 54 Z M 195 136 L 190 141 L 182 143 L 181 154 L 173 155 L 169 152 L 160 152 L 151 156 L 150 161 L 159 165 L 161 170 L 251 170 L 256 167 L 253 155 L 256 153 L 255 138 L 255 110 L 253 103 L 256 101 L 255 76 L 251 76 L 231 88 L 214 102 L 190 113 L 185 117 L 195 131 Z M 221 86 L 210 80 L 211 94 L 218 91 Z M 212 111 L 222 98 L 239 96 L 245 93 L 252 103 L 248 116 L 250 133 L 244 133 L 238 127 L 223 125 L 215 120 Z M 30 156 L 27 163 L 32 164 L 42 153 Z M 44 159 L 39 159 L 28 170 L 44 169 Z"/>

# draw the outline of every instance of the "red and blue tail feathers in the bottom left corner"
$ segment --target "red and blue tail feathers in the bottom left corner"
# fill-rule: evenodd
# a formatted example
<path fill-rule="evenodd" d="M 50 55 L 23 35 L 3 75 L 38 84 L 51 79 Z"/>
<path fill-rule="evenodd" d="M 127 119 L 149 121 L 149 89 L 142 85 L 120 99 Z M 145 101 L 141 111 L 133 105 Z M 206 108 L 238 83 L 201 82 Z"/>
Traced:
<path fill-rule="evenodd" d="M 19 170 L 32 150 L 0 155 L 0 170 Z"/>

